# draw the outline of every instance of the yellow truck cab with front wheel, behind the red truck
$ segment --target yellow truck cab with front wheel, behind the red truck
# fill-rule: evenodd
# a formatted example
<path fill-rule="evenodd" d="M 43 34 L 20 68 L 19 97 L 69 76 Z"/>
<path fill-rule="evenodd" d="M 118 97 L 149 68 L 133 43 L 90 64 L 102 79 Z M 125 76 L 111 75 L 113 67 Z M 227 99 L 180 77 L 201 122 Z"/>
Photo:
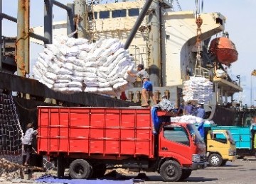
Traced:
<path fill-rule="evenodd" d="M 227 161 L 235 161 L 236 146 L 229 130 L 209 130 L 208 128 L 205 142 L 206 156 L 210 166 L 225 166 Z"/>

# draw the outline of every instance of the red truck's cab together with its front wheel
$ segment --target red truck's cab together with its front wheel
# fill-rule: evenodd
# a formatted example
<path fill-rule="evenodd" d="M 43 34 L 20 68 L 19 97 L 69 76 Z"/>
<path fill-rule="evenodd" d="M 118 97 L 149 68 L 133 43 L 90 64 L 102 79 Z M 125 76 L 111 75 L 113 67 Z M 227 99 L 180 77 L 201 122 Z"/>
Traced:
<path fill-rule="evenodd" d="M 169 122 L 161 126 L 158 137 L 156 152 L 164 180 L 184 180 L 193 170 L 206 167 L 206 144 L 195 125 Z"/>

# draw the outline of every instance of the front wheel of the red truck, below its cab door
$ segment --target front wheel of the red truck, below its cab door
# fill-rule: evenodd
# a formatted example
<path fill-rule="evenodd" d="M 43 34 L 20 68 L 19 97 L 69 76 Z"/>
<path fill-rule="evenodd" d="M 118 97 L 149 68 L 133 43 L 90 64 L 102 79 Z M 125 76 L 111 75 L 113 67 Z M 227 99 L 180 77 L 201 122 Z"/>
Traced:
<path fill-rule="evenodd" d="M 178 181 L 181 178 L 181 166 L 176 161 L 165 161 L 160 167 L 161 177 L 165 181 Z"/>

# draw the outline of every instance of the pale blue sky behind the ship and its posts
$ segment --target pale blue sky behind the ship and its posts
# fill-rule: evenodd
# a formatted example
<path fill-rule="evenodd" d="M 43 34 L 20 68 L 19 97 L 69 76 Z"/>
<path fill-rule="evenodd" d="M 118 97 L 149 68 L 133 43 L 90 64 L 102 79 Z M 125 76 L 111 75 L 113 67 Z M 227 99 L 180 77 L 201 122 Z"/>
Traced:
<path fill-rule="evenodd" d="M 62 4 L 72 3 L 70 0 L 58 0 Z M 106 0 L 101 0 L 105 2 Z M 114 2 L 108 0 L 107 2 Z M 174 10 L 178 11 L 178 6 L 174 0 Z M 198 0 L 202 4 L 202 0 Z M 182 11 L 195 11 L 195 0 L 178 0 Z M 43 0 L 31 0 L 31 27 L 43 25 Z M 17 0 L 2 0 L 2 12 L 9 16 L 17 17 Z M 256 1 L 255 0 L 204 0 L 201 13 L 219 12 L 226 17 L 225 31 L 228 31 L 229 38 L 235 43 L 238 50 L 238 61 L 228 68 L 233 80 L 240 75 L 242 93 L 236 93 L 235 99 L 242 100 L 243 104 L 256 105 L 256 76 L 251 73 L 256 69 L 255 61 L 255 30 L 256 30 Z M 53 6 L 53 21 L 66 20 L 65 10 Z M 16 36 L 16 23 L 3 20 L 2 33 L 4 36 Z M 43 47 L 31 44 L 31 61 L 36 60 L 38 53 L 43 51 Z M 32 71 L 32 69 L 31 69 Z M 240 99 L 239 99 L 240 96 Z"/>

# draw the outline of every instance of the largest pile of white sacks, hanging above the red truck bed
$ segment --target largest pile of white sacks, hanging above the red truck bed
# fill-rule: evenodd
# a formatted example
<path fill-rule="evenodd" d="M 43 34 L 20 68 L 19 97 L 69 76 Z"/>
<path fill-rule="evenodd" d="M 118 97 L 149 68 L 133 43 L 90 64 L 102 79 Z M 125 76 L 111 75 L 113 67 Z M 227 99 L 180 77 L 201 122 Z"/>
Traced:
<path fill-rule="evenodd" d="M 119 96 L 136 80 L 127 74 L 134 62 L 118 39 L 90 44 L 84 38 L 60 37 L 39 55 L 33 67 L 35 79 L 54 91 Z"/>

